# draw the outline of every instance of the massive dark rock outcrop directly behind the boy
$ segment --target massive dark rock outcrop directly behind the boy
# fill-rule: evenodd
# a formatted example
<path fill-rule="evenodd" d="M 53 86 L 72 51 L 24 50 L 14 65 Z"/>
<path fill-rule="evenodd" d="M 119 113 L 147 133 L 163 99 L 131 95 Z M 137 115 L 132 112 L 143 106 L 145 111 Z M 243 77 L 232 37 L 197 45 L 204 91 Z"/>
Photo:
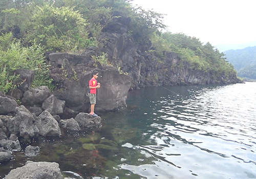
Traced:
<path fill-rule="evenodd" d="M 97 89 L 95 110 L 118 110 L 126 106 L 125 99 L 131 86 L 131 78 L 120 74 L 113 66 L 102 66 L 94 61 L 91 55 L 96 53 L 96 51 L 87 50 L 82 55 L 67 53 L 49 55 L 52 64 L 50 74 L 59 85 L 58 90 L 53 94 L 56 98 L 65 101 L 66 106 L 77 114 L 88 111 L 90 108 L 89 80 L 94 70 L 99 72 L 97 80 L 101 83 L 101 88 Z"/>

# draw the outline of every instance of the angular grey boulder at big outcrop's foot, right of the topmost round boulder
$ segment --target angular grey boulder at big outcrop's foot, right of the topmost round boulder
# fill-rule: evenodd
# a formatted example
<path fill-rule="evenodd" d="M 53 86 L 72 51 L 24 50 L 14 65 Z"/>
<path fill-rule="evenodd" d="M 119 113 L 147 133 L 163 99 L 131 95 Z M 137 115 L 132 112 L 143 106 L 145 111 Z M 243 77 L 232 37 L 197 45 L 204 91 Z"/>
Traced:
<path fill-rule="evenodd" d="M 63 108 L 65 107 L 65 101 L 57 99 L 54 95 L 51 95 L 49 98 L 42 103 L 42 108 L 49 111 L 51 115 L 60 115 L 63 113 Z"/>

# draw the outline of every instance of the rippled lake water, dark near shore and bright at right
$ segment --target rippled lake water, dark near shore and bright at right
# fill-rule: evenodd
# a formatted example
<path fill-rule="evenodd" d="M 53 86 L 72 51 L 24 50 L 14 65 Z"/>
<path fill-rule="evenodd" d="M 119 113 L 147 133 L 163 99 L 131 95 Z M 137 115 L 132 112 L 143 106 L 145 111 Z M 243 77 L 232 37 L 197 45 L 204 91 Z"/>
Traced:
<path fill-rule="evenodd" d="M 65 178 L 256 178 L 256 83 L 153 87 L 129 92 L 127 108 L 102 114 L 93 132 L 38 139 Z"/>

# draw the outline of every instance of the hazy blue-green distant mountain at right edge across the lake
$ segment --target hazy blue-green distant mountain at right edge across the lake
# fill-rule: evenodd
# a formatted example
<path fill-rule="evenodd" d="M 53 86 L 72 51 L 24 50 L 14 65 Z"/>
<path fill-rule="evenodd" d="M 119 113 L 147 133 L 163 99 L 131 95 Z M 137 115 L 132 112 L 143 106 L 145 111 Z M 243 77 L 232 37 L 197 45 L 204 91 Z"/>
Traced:
<path fill-rule="evenodd" d="M 256 79 L 256 46 L 224 52 L 226 60 L 233 64 L 238 76 Z"/>

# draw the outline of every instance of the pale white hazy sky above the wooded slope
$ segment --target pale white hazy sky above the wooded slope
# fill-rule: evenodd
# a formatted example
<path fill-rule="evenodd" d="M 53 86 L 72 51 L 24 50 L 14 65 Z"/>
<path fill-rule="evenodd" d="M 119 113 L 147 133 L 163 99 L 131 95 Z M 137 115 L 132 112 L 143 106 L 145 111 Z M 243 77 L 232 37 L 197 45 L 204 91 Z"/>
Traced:
<path fill-rule="evenodd" d="M 256 0 L 134 0 L 167 14 L 172 33 L 183 32 L 213 45 L 256 41 Z"/>

